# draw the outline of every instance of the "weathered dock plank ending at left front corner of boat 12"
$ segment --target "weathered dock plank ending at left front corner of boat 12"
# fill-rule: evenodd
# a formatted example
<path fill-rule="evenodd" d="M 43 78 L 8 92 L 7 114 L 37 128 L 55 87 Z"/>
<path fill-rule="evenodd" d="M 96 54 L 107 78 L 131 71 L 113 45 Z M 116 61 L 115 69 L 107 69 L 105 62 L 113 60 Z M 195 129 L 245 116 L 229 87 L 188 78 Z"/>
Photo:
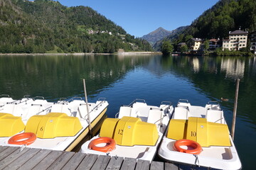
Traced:
<path fill-rule="evenodd" d="M 84 159 L 86 154 L 81 154 L 81 153 L 75 153 L 73 157 L 68 161 L 67 164 L 63 167 L 63 170 L 75 170 L 80 162 L 82 162 L 82 159 Z"/>

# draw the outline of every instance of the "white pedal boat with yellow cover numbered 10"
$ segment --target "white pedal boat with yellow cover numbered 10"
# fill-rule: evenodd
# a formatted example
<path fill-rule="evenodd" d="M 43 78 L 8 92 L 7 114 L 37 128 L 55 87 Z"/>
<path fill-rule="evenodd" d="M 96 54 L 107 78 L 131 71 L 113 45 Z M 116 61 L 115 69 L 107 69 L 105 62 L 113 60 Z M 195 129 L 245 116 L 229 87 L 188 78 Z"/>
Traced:
<path fill-rule="evenodd" d="M 180 143 L 186 140 L 189 143 Z M 223 111 L 215 101 L 202 107 L 179 100 L 158 154 L 167 162 L 213 169 L 242 168 Z"/>

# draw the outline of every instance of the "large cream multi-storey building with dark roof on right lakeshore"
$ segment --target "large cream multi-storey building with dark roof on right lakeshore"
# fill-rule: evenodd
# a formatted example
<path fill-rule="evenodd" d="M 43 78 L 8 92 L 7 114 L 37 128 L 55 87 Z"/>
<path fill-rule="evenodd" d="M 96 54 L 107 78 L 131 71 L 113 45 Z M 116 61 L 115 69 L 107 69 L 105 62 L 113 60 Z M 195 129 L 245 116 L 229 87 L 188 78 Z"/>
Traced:
<path fill-rule="evenodd" d="M 240 50 L 247 47 L 248 32 L 243 30 L 234 30 L 229 32 L 229 39 L 223 40 L 223 50 Z"/>

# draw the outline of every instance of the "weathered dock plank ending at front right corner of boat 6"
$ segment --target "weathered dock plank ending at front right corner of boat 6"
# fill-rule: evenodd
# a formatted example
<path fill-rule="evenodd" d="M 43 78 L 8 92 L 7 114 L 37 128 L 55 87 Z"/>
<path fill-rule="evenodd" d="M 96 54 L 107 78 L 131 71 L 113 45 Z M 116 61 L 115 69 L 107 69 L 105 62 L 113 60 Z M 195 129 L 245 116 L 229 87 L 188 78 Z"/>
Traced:
<path fill-rule="evenodd" d="M 74 154 L 75 152 L 63 152 L 63 154 L 61 154 L 60 157 L 58 157 L 58 159 L 56 159 L 55 162 L 53 162 L 53 164 L 48 167 L 48 169 L 62 169 L 63 166 L 65 166 L 65 164 L 67 164 L 67 162 L 71 159 L 71 157 L 73 157 Z"/>

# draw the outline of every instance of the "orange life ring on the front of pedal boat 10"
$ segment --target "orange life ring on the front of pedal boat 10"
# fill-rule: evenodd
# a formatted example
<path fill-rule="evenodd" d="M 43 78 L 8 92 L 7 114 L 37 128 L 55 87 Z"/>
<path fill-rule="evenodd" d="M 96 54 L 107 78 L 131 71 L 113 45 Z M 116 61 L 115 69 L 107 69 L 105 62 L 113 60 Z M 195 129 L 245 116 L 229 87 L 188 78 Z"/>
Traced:
<path fill-rule="evenodd" d="M 181 146 L 192 147 L 193 149 L 183 149 Z M 177 140 L 174 143 L 174 149 L 178 152 L 183 152 L 187 154 L 200 154 L 202 152 L 202 147 L 198 142 L 193 140 Z"/>

